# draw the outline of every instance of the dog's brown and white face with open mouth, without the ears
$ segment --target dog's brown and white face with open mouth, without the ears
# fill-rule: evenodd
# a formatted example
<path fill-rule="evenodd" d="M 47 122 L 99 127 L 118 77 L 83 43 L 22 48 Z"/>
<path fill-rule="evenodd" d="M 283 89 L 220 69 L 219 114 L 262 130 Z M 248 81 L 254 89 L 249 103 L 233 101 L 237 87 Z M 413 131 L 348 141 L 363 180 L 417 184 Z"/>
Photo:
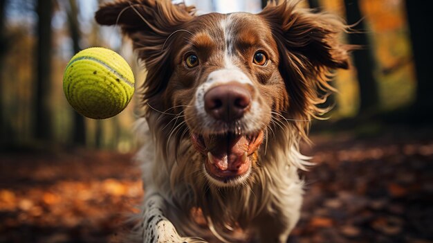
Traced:
<path fill-rule="evenodd" d="M 184 29 L 165 97 L 183 111 L 210 181 L 241 182 L 271 110 L 288 102 L 277 44 L 264 19 L 247 13 L 199 16 Z"/>

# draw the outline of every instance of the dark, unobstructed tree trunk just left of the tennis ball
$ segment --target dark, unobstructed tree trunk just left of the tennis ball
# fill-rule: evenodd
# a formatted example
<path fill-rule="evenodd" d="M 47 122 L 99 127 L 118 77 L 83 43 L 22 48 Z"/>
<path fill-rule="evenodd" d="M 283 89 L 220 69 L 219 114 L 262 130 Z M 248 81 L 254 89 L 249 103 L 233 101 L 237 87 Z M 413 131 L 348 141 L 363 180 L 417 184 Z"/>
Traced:
<path fill-rule="evenodd" d="M 36 102 L 35 102 L 35 137 L 48 141 L 51 138 L 50 114 L 50 75 L 51 75 L 51 17 L 53 15 L 52 0 L 37 1 L 37 57 L 36 57 Z"/>

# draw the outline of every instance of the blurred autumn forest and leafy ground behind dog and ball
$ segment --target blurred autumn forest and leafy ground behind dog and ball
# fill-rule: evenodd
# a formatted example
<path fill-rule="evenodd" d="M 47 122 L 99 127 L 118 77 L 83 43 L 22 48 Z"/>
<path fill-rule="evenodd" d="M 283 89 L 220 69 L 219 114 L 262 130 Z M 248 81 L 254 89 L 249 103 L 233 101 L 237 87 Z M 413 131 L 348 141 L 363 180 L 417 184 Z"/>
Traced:
<path fill-rule="evenodd" d="M 178 2 L 178 1 L 176 1 Z M 266 1 L 188 0 L 199 14 L 259 12 Z M 98 26 L 98 0 L 0 0 L 0 242 L 107 242 L 142 197 L 133 165 L 136 100 L 92 120 L 62 89 L 68 60 L 104 46 L 142 65 L 118 28 Z M 309 0 L 356 24 L 363 48 L 336 71 L 328 120 L 305 154 L 317 163 L 289 242 L 433 242 L 430 12 L 414 0 Z"/>

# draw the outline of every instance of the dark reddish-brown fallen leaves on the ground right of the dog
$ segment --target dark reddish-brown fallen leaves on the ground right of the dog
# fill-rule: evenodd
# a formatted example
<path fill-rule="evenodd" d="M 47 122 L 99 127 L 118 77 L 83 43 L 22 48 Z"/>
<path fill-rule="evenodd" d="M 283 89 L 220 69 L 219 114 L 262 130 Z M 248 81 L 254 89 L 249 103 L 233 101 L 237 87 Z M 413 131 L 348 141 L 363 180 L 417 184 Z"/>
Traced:
<path fill-rule="evenodd" d="M 289 242 L 432 242 L 431 137 L 319 141 Z"/>

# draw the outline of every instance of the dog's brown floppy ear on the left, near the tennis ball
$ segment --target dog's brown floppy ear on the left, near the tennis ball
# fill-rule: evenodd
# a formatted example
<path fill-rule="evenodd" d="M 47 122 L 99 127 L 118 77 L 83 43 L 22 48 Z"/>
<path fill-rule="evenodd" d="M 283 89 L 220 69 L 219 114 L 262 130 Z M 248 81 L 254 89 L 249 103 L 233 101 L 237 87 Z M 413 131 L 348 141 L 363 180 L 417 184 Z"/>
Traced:
<path fill-rule="evenodd" d="M 122 33 L 133 41 L 138 58 L 145 62 L 153 80 L 145 84 L 145 96 L 154 96 L 161 91 L 169 75 L 167 62 L 175 38 L 169 36 L 193 19 L 195 8 L 183 3 L 173 4 L 170 0 L 118 0 L 100 6 L 95 19 L 102 25 L 117 25 Z"/>

